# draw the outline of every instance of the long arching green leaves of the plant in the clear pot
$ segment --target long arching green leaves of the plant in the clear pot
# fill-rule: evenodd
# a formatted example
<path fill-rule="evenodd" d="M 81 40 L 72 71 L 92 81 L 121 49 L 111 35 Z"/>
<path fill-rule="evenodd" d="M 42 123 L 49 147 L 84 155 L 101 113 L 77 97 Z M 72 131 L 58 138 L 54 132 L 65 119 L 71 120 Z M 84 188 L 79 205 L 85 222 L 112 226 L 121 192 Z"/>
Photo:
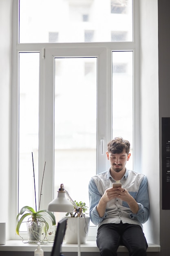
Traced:
<path fill-rule="evenodd" d="M 27 213 L 25 213 L 27 211 Z M 23 215 L 24 214 L 24 215 Z M 21 215 L 20 220 L 18 221 L 19 217 Z M 28 216 L 31 216 L 31 218 L 29 218 L 29 221 L 31 221 L 32 223 L 35 222 L 43 222 L 44 223 L 44 232 L 45 232 L 45 236 L 47 234 L 47 231 L 49 229 L 49 224 L 48 222 L 45 220 L 45 218 L 47 218 L 48 220 L 50 220 L 52 222 L 52 225 L 56 225 L 55 222 L 55 216 L 53 215 L 53 213 L 51 211 L 47 211 L 47 210 L 40 210 L 40 211 L 35 211 L 32 207 L 29 206 L 24 206 L 22 207 L 22 209 L 20 210 L 20 212 L 17 215 L 17 226 L 16 226 L 16 233 L 18 235 L 20 232 L 20 225 L 22 224 L 22 222 L 24 222 L 24 219 Z M 31 220 L 30 220 L 31 219 Z M 27 220 L 28 221 L 28 220 Z"/>

